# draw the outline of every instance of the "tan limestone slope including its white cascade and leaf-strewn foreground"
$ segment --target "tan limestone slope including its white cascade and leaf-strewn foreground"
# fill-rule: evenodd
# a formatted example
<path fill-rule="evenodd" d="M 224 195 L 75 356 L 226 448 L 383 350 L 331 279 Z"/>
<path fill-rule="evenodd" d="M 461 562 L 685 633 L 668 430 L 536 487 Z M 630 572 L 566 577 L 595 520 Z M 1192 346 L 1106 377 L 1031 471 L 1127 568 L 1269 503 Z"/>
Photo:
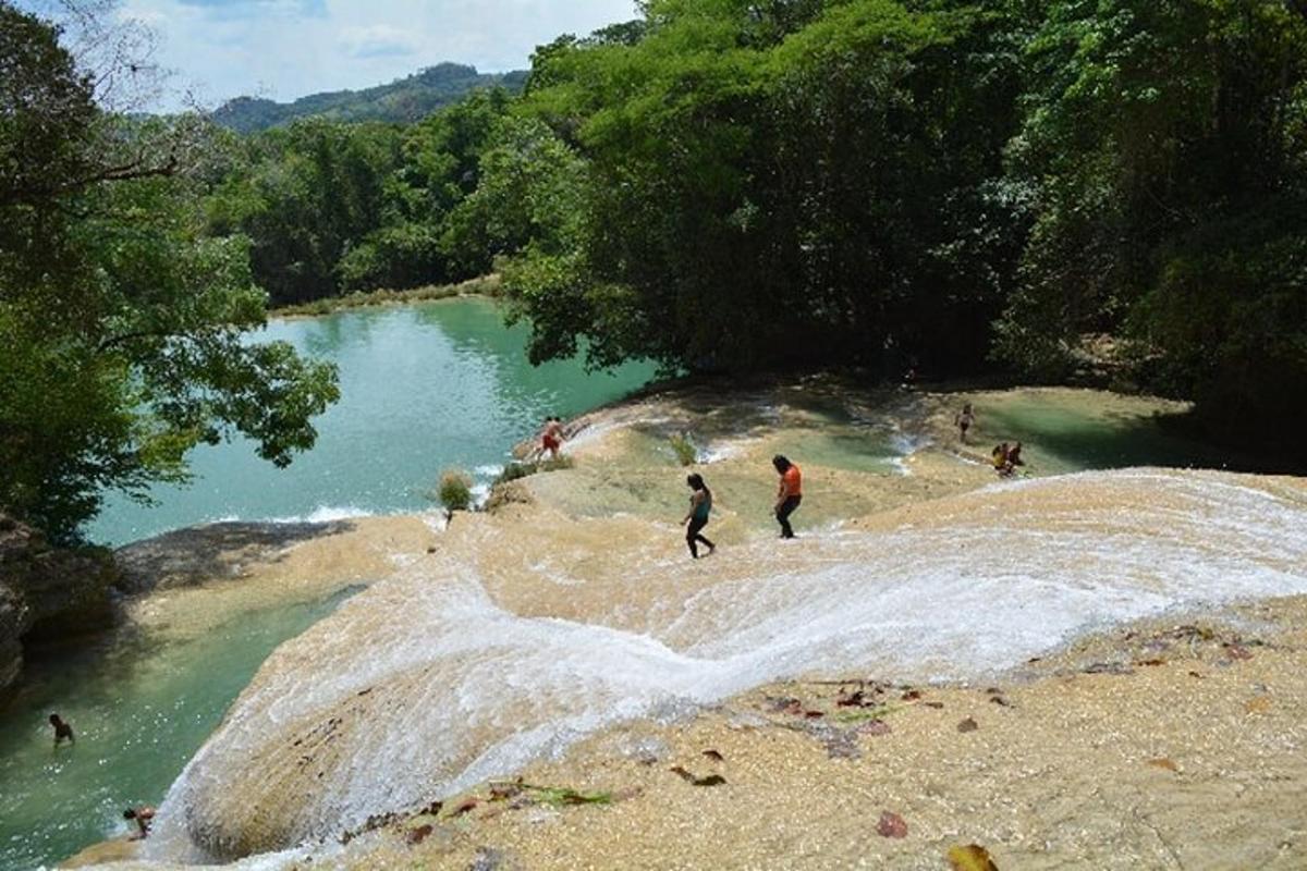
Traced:
<path fill-rule="evenodd" d="M 1307 592 L 1303 482 L 989 486 L 951 430 L 959 398 L 655 392 L 574 422 L 574 466 L 511 482 L 493 513 L 366 521 L 370 571 L 389 572 L 267 661 L 170 794 L 154 855 L 325 838 L 311 854 L 331 867 L 911 868 L 976 841 L 999 867 L 1167 867 L 1166 842 L 1187 864 L 1277 867 L 1266 831 L 1303 782 L 1285 757 L 1304 606 L 1226 603 Z M 978 400 L 980 445 L 1021 435 L 1000 435 L 1000 398 Z M 1127 444 L 1174 410 L 1026 398 L 1124 420 Z M 673 439 L 718 494 L 699 563 Z M 1033 473 L 1069 461 L 1031 448 Z M 778 451 L 808 494 L 782 546 Z M 277 562 L 311 577 L 312 548 L 340 571 L 359 533 Z M 1093 640 L 1052 653 L 1068 637 Z M 1221 772 L 1255 820 L 1221 804 Z M 877 833 L 885 811 L 904 838 Z M 1189 825 L 1216 836 L 1176 846 Z"/>

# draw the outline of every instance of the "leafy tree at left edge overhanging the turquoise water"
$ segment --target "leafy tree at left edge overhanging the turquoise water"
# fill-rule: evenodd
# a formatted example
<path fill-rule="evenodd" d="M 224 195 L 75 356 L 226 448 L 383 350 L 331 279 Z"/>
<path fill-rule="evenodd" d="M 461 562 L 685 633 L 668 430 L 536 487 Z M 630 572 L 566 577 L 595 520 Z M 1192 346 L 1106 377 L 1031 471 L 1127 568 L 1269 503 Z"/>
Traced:
<path fill-rule="evenodd" d="M 248 240 L 205 234 L 205 125 L 105 115 L 58 37 L 0 3 L 0 508 L 67 539 L 200 441 L 289 462 L 337 392 L 242 338 L 265 296 Z"/>

